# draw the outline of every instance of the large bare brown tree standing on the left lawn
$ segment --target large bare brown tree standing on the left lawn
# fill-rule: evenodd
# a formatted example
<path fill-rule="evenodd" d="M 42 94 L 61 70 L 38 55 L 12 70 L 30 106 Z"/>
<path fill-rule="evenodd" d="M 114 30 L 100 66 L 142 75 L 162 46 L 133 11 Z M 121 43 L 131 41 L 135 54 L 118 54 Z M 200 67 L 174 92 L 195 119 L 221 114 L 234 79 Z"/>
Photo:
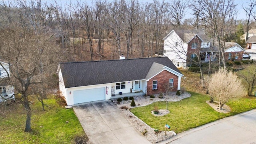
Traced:
<path fill-rule="evenodd" d="M 33 9 L 33 6 L 28 8 L 24 7 L 26 4 L 20 3 L 19 7 L 11 8 L 1 4 L 2 11 L 9 11 L 5 15 L 0 13 L 1 17 L 8 18 L 2 19 L 0 23 L 0 57 L 9 64 L 9 84 L 13 85 L 15 92 L 21 93 L 24 99 L 27 112 L 24 131 L 29 132 L 32 110 L 28 96 L 37 94 L 38 90 L 45 90 L 45 84 L 52 82 L 50 78 L 52 70 L 56 70 L 55 62 L 58 58 L 55 53 L 55 37 L 50 32 L 50 27 L 38 17 L 35 12 L 37 9 Z M 39 8 L 40 4 L 37 6 Z M 42 87 L 38 89 L 40 86 Z"/>

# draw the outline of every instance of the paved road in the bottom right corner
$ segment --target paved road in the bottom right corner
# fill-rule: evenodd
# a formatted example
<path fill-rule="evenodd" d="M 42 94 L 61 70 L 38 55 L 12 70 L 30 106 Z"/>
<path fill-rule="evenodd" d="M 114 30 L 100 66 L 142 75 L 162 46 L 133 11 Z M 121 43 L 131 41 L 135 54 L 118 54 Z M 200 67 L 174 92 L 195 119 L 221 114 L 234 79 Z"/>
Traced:
<path fill-rule="evenodd" d="M 182 132 L 161 144 L 256 144 L 256 109 Z"/>

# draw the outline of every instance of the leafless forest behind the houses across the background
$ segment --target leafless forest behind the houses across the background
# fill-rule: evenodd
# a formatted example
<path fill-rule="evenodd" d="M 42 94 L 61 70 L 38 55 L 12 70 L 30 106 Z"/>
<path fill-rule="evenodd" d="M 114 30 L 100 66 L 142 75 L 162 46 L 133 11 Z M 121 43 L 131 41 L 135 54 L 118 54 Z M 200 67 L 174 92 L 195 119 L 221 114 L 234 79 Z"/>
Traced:
<path fill-rule="evenodd" d="M 60 57 L 58 62 L 110 60 L 121 53 L 126 58 L 161 54 L 162 39 L 173 28 L 204 28 L 209 37 L 230 39 L 239 23 L 246 30 L 255 15 L 254 1 L 244 6 L 248 10 L 253 6 L 251 20 L 236 19 L 232 0 L 60 2 L 65 1 L 2 1 L 1 29 L 17 22 L 21 28 L 26 25 L 27 30 L 51 36 L 55 41 L 52 47 Z M 193 17 L 186 19 L 188 13 Z"/>

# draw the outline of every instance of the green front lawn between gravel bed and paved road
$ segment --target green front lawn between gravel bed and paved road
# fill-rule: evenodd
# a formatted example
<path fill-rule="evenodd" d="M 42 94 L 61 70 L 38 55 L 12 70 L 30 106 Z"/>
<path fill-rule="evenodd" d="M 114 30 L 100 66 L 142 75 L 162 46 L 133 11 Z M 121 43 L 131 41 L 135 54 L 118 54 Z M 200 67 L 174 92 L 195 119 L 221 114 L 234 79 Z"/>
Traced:
<path fill-rule="evenodd" d="M 256 98 L 240 98 L 229 102 L 227 105 L 232 108 L 232 111 L 229 114 L 223 114 L 216 112 L 206 103 L 206 100 L 210 99 L 209 96 L 195 92 L 189 93 L 191 94 L 189 98 L 179 102 L 169 102 L 168 110 L 170 110 L 170 113 L 165 116 L 157 117 L 151 114 L 154 106 L 158 106 L 159 109 L 166 109 L 165 102 L 154 102 L 148 106 L 132 108 L 130 111 L 152 128 L 164 130 L 164 125 L 168 124 L 171 126 L 170 130 L 180 133 L 256 108 Z"/>

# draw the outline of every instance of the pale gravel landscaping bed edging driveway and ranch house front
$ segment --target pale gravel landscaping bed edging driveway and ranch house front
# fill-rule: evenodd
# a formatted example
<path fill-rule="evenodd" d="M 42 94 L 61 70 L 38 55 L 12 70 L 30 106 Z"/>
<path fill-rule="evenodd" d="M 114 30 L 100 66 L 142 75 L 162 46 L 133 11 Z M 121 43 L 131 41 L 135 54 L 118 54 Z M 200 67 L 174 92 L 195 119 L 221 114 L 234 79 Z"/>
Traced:
<path fill-rule="evenodd" d="M 164 98 L 158 98 L 158 95 L 159 94 L 155 94 L 154 95 L 155 98 L 150 98 L 150 96 L 136 96 L 136 97 L 134 97 L 134 102 L 136 103 L 135 107 L 146 106 L 148 104 L 152 104 L 153 102 L 165 101 L 166 100 L 165 96 L 164 96 Z M 176 92 L 172 92 L 172 94 L 170 94 L 168 96 L 168 101 L 172 101 L 172 102 L 180 101 L 183 98 L 188 98 L 190 96 L 191 95 L 188 92 L 184 92 L 180 96 L 177 96 Z M 131 100 L 122 101 L 122 102 L 120 102 L 120 104 L 118 104 L 116 99 L 113 100 L 113 102 L 119 108 L 121 106 L 127 106 L 128 108 L 132 108 L 130 106 Z M 140 132 L 152 144 L 155 144 L 157 142 L 161 142 L 162 140 L 169 139 L 169 138 L 176 135 L 176 133 L 174 131 L 167 131 L 166 136 L 165 136 L 165 131 L 159 131 L 158 133 L 156 133 L 154 128 L 151 128 L 145 122 L 140 120 L 137 116 L 132 114 L 132 112 L 130 112 L 129 109 L 128 110 L 121 109 L 121 110 L 124 113 L 124 115 L 127 117 L 127 119 L 130 120 L 130 122 L 132 123 L 134 128 L 136 130 L 138 130 L 138 132 Z M 168 114 L 168 112 L 166 112 L 166 110 L 159 110 L 159 112 L 160 112 L 160 114 L 158 114 L 158 116 L 163 116 L 165 114 Z"/>

